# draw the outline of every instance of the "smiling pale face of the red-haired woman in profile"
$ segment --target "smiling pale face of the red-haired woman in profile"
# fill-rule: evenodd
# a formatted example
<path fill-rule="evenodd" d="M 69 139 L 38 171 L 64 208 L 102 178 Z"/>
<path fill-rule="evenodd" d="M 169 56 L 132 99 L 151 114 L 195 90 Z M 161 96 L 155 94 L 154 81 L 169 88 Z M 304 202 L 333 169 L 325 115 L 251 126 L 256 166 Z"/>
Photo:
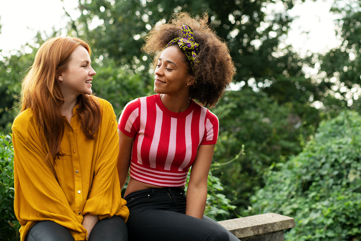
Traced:
<path fill-rule="evenodd" d="M 66 70 L 58 77 L 60 90 L 65 99 L 92 94 L 91 81 L 96 72 L 90 63 L 89 53 L 83 46 L 76 47 L 71 53 Z"/>

